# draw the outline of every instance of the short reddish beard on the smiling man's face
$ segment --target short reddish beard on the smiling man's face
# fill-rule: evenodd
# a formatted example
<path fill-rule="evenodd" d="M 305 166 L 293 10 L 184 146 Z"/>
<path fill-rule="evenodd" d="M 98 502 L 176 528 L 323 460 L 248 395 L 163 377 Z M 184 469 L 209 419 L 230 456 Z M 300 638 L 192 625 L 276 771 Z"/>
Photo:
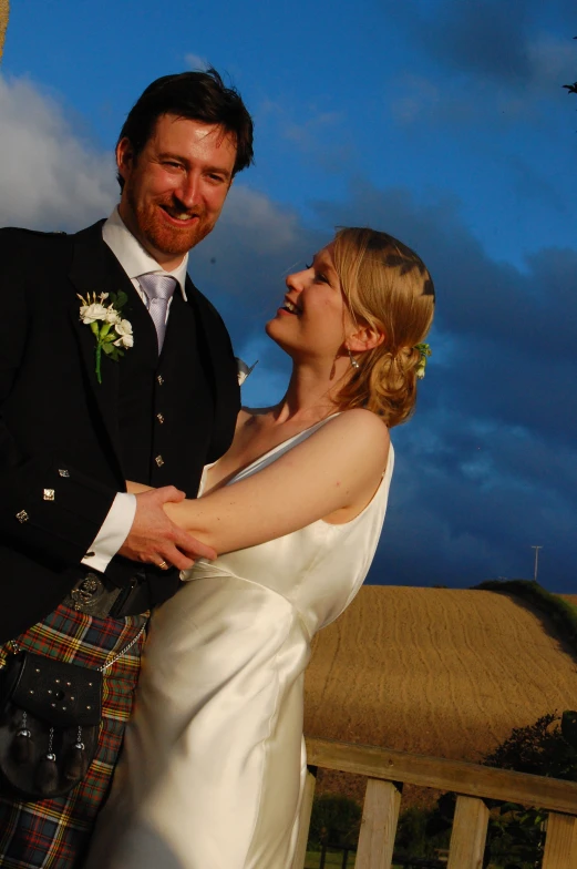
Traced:
<path fill-rule="evenodd" d="M 214 222 L 210 223 L 204 209 L 199 208 L 193 209 L 193 214 L 197 217 L 193 226 L 183 226 L 182 228 L 172 226 L 158 214 L 161 206 L 165 205 L 171 211 L 179 213 L 187 213 L 187 208 L 174 202 L 172 197 L 140 205 L 133 197 L 131 190 L 127 190 L 126 193 L 140 238 L 146 247 L 150 245 L 162 254 L 173 256 L 186 254 L 202 242 L 214 227 Z"/>

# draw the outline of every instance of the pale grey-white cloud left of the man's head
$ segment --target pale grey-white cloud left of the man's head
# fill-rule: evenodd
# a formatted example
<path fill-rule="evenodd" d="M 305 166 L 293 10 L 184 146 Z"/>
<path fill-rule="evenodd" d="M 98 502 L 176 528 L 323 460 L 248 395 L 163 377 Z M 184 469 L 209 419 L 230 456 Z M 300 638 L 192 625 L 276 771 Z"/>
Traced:
<path fill-rule="evenodd" d="M 117 198 L 112 155 L 82 142 L 58 102 L 0 76 L 0 225 L 79 228 Z"/>

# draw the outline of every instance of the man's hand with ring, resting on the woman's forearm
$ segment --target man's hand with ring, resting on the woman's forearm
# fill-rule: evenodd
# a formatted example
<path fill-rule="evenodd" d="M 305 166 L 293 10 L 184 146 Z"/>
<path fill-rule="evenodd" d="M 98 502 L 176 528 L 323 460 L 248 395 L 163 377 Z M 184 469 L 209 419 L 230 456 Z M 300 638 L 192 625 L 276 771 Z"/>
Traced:
<path fill-rule="evenodd" d="M 164 512 L 163 504 L 178 503 L 184 497 L 174 485 L 137 494 L 134 522 L 119 554 L 157 566 L 164 562 L 178 570 L 192 568 L 195 559 L 216 559 L 214 549 L 179 529 Z"/>

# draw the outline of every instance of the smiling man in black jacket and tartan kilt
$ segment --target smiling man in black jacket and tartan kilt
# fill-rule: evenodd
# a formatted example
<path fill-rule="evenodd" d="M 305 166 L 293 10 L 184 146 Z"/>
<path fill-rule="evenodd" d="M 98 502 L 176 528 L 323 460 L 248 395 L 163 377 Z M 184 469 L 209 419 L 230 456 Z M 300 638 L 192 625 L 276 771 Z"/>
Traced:
<path fill-rule="evenodd" d="M 214 556 L 163 503 L 194 498 L 233 439 L 230 340 L 186 267 L 251 159 L 250 115 L 215 70 L 167 75 L 121 131 L 107 221 L 76 235 L 0 231 L 0 664 L 23 650 L 105 679 L 80 785 L 27 801 L 0 778 L 0 866 L 78 866 L 146 612 L 176 591 L 178 569 Z M 155 491 L 127 494 L 126 480 Z"/>

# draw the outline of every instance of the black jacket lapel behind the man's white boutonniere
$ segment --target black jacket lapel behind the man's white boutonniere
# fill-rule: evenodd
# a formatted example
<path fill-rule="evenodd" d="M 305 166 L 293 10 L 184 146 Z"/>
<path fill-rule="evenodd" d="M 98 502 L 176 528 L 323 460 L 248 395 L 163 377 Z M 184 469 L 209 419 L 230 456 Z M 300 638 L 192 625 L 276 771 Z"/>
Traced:
<path fill-rule="evenodd" d="M 125 293 L 130 294 L 131 299 L 133 294 L 137 298 L 126 273 L 123 270 L 109 246 L 102 241 L 102 224 L 103 221 L 94 224 L 94 226 L 91 226 L 87 229 L 83 229 L 75 236 L 72 264 L 69 272 L 69 278 L 72 282 L 74 290 L 78 295 L 86 298 L 87 295 L 92 297 L 93 293 L 95 293 L 96 296 L 100 296 L 101 293 L 117 293 L 120 289 L 123 289 Z M 142 304 L 138 298 L 137 301 L 138 304 Z M 102 382 L 99 384 L 95 368 L 96 339 L 90 326 L 83 324 L 80 319 L 79 311 L 81 305 L 82 301 L 78 296 L 74 296 L 71 301 L 70 314 L 79 340 L 80 355 L 86 374 L 86 382 L 104 422 L 104 428 L 116 459 L 117 470 L 120 474 L 123 476 L 119 458 L 119 366 L 122 365 L 122 358 L 114 362 L 105 357 L 104 354 L 102 355 Z M 127 352 L 130 351 L 131 350 L 127 350 Z"/>

